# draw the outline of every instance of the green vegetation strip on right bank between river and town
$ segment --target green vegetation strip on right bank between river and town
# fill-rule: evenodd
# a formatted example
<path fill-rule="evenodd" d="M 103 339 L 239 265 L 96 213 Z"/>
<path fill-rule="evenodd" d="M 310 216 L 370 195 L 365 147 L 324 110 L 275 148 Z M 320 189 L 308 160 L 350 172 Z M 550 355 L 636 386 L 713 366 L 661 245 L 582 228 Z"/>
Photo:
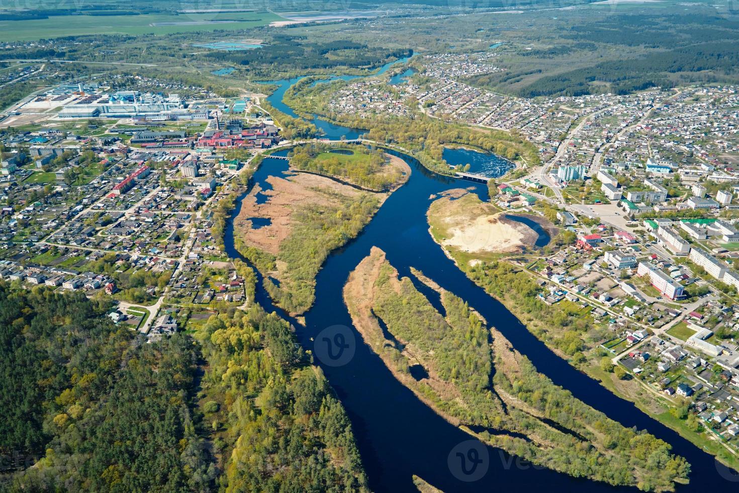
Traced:
<path fill-rule="evenodd" d="M 437 200 L 429 208 L 429 225 L 439 224 L 446 215 L 440 205 L 443 202 Z M 556 219 L 556 211 L 552 208 L 545 207 L 544 214 L 550 220 Z M 590 313 L 583 313 L 579 305 L 562 302 L 548 305 L 542 302 L 539 294 L 544 290 L 536 282 L 536 278 L 524 267 L 503 256 L 490 258 L 469 254 L 445 244 L 441 228 L 432 227 L 429 231 L 471 281 L 503 303 L 547 347 L 591 378 L 602 382 L 611 392 L 632 401 L 662 424 L 715 455 L 722 463 L 734 468 L 738 466 L 735 455 L 713 440 L 691 415 L 683 412 L 687 407 L 654 395 L 642 386 L 638 377 L 630 378 L 622 367 L 613 365 L 610 361 L 611 353 L 600 347 L 600 344 L 613 337 L 613 331 L 607 324 L 597 322 Z M 562 230 L 554 237 L 552 244 L 562 247 L 570 245 L 574 239 L 573 234 Z"/>

